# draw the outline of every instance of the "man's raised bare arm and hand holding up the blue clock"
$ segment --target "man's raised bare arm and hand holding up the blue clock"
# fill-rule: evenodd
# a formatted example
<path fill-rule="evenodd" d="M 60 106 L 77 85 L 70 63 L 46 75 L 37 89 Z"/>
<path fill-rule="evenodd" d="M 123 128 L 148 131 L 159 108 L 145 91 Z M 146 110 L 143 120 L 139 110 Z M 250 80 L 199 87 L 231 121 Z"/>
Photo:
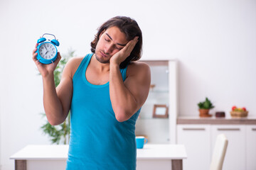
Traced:
<path fill-rule="evenodd" d="M 37 47 L 37 45 L 36 45 Z M 43 106 L 46 117 L 51 125 L 63 123 L 70 110 L 73 84 L 70 77 L 70 66 L 66 65 L 60 84 L 55 88 L 53 72 L 60 61 L 58 53 L 57 60 L 53 64 L 41 64 L 36 59 L 36 48 L 33 50 L 33 61 L 43 78 Z"/>

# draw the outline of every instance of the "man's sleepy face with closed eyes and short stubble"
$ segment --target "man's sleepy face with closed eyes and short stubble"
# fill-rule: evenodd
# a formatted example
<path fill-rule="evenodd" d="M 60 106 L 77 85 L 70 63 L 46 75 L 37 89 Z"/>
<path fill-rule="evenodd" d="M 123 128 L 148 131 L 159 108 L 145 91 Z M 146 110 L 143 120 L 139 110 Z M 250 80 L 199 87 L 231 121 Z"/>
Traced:
<path fill-rule="evenodd" d="M 100 34 L 95 49 L 95 57 L 101 63 L 109 63 L 110 58 L 127 45 L 128 40 L 119 28 L 111 27 Z"/>

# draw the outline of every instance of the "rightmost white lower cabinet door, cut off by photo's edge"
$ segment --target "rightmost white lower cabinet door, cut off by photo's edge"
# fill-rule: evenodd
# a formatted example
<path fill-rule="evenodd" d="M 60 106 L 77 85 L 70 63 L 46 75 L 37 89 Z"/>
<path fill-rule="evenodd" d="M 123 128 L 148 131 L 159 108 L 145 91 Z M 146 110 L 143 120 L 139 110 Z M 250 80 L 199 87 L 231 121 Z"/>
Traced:
<path fill-rule="evenodd" d="M 246 169 L 256 169 L 256 125 L 246 125 Z"/>

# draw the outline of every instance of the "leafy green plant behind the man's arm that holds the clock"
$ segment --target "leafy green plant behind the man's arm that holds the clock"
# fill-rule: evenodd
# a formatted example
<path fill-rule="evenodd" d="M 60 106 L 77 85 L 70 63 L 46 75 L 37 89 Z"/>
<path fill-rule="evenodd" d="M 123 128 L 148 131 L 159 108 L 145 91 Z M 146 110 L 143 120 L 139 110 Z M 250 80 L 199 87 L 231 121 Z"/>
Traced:
<path fill-rule="evenodd" d="M 70 49 L 68 50 L 68 53 L 65 55 L 62 55 L 62 58 L 60 62 L 58 63 L 58 66 L 56 67 L 54 74 L 54 80 L 55 80 L 55 87 L 60 84 L 61 74 L 63 72 L 63 69 L 65 67 L 65 64 L 68 62 L 68 60 L 73 57 L 75 51 Z M 42 113 L 43 117 L 46 117 L 46 113 Z M 50 137 L 51 142 L 54 144 L 68 144 L 69 142 L 69 135 L 70 135 L 70 113 L 68 113 L 68 118 L 60 124 L 60 125 L 50 125 L 48 121 L 44 125 L 41 126 L 41 130 L 43 130 L 43 133 L 48 135 Z"/>

